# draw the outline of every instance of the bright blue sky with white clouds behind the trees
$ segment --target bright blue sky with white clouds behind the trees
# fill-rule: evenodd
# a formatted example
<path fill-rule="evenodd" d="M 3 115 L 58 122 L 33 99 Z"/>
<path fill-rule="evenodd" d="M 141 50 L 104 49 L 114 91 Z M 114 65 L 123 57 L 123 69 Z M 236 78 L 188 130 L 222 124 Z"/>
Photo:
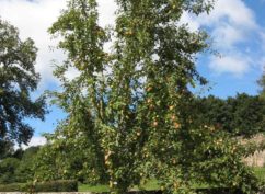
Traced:
<path fill-rule="evenodd" d="M 99 0 L 101 25 L 114 21 L 115 3 L 113 0 Z M 37 92 L 59 89 L 59 82 L 53 77 L 51 60 L 60 62 L 65 56 L 61 50 L 50 50 L 57 41 L 50 39 L 47 28 L 66 7 L 66 0 L 0 0 L 0 15 L 3 20 L 18 26 L 22 38 L 31 37 L 39 48 L 36 70 L 42 75 Z M 220 98 L 234 96 L 246 92 L 255 95 L 258 87 L 256 80 L 262 76 L 265 65 L 265 0 L 217 0 L 210 15 L 184 13 L 183 23 L 188 23 L 192 31 L 205 28 L 214 43 L 212 48 L 221 57 L 200 55 L 197 62 L 199 72 L 205 76 L 212 88 L 204 94 Z M 73 78 L 78 72 L 68 73 Z M 45 122 L 27 121 L 36 128 L 31 145 L 44 144 L 42 133 L 53 132 L 57 121 L 65 114 L 57 107 L 50 107 Z"/>

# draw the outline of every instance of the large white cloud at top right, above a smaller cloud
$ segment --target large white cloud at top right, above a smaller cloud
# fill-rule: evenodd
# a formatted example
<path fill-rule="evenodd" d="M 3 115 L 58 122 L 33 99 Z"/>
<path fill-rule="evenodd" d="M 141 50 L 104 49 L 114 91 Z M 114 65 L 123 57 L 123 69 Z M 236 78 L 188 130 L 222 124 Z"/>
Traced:
<path fill-rule="evenodd" d="M 258 28 L 253 11 L 242 0 L 218 0 L 209 19 L 200 22 L 212 27 L 217 45 L 228 49 Z"/>

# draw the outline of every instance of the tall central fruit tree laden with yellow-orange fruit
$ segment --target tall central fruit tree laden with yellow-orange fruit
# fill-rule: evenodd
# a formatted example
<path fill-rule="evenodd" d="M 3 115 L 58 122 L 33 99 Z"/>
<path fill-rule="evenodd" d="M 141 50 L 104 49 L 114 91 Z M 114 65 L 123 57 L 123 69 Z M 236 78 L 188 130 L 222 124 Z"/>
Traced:
<path fill-rule="evenodd" d="M 45 153 L 66 153 L 66 161 L 70 150 L 84 150 L 93 160 L 83 161 L 82 172 L 95 179 L 106 172 L 118 194 L 150 176 L 168 193 L 192 193 L 194 182 L 255 191 L 237 140 L 193 119 L 189 85 L 206 83 L 195 57 L 208 50 L 208 36 L 180 19 L 208 12 L 211 1 L 116 2 L 113 27 L 97 24 L 96 0 L 70 0 L 49 30 L 68 54 L 55 71 L 64 91 L 54 92 L 68 117 Z M 69 68 L 80 76 L 67 79 Z"/>

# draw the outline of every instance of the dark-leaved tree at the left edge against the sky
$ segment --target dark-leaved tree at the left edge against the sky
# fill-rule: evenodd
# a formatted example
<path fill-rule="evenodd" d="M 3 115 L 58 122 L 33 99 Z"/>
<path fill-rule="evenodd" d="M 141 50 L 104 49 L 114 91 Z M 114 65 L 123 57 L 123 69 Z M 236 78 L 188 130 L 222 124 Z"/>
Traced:
<path fill-rule="evenodd" d="M 39 81 L 36 53 L 32 39 L 21 41 L 18 30 L 0 20 L 0 141 L 27 144 L 33 128 L 24 118 L 44 119 L 44 98 L 31 99 Z"/>

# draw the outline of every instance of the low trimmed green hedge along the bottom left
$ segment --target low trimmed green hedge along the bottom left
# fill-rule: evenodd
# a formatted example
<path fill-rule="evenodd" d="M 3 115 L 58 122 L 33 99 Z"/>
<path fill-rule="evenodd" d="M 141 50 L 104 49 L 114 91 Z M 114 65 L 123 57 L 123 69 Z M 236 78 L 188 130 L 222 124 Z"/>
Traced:
<path fill-rule="evenodd" d="M 78 192 L 77 181 L 50 181 L 33 184 L 5 184 L 0 185 L 0 192 Z"/>

